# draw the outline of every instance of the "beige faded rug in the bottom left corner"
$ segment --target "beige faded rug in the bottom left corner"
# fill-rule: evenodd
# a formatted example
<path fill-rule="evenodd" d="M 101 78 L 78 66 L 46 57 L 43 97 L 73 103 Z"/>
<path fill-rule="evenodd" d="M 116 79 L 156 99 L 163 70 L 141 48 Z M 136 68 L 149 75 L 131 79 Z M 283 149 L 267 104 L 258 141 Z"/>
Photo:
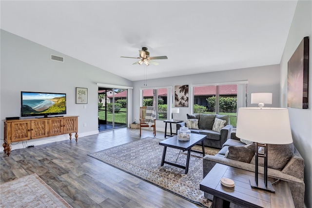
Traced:
<path fill-rule="evenodd" d="M 36 174 L 1 184 L 1 208 L 71 208 Z"/>

